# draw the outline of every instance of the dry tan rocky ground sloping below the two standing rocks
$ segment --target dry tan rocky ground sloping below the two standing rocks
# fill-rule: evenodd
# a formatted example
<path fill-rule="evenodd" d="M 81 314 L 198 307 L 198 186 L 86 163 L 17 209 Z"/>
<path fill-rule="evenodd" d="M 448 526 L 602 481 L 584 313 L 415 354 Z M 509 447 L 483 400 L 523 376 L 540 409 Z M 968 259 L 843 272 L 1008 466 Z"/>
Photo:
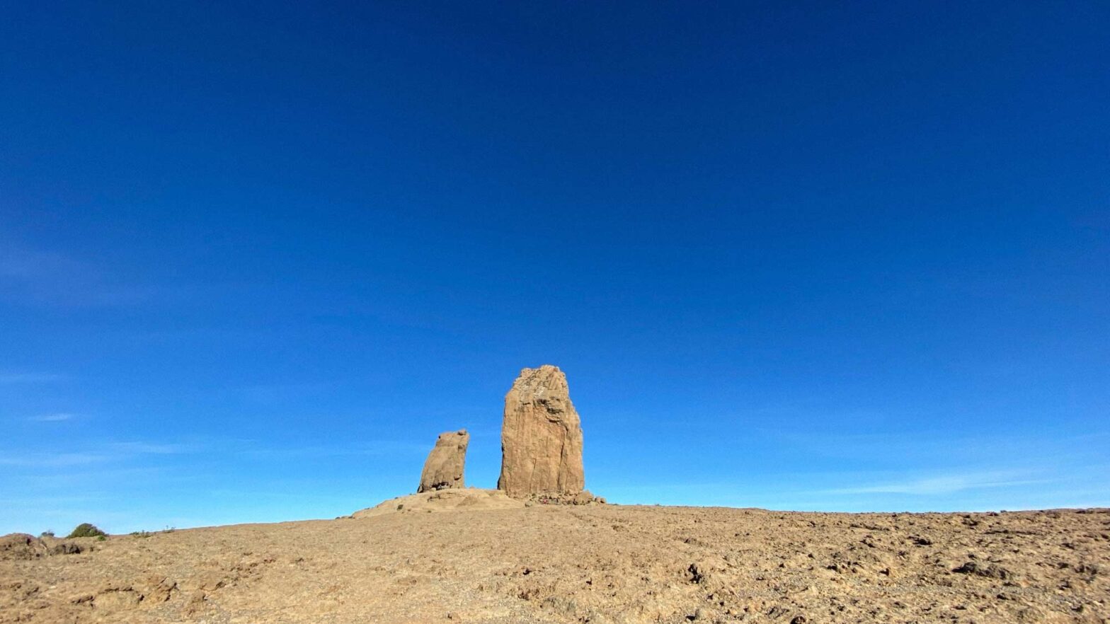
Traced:
<path fill-rule="evenodd" d="M 331 521 L 8 537 L 0 622 L 1110 622 L 1110 510 L 523 506 L 468 492 L 480 500 L 431 492 Z"/>

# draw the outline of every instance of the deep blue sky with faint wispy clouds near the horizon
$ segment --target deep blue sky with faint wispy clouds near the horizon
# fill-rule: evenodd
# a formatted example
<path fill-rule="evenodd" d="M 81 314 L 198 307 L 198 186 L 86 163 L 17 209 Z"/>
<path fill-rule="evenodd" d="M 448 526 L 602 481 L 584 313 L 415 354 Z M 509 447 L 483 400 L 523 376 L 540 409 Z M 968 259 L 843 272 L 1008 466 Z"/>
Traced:
<path fill-rule="evenodd" d="M 1110 6 L 14 3 L 0 533 L 331 517 L 559 365 L 620 503 L 1110 505 Z"/>

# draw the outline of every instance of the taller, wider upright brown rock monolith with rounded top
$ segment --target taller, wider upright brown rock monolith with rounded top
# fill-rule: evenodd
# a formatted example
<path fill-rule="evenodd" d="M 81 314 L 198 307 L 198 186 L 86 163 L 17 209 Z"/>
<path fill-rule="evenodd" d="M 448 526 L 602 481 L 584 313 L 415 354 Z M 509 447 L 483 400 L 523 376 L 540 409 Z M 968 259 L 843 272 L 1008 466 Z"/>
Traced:
<path fill-rule="evenodd" d="M 505 395 L 497 489 L 514 497 L 574 494 L 585 486 L 582 424 L 566 375 L 544 364 L 524 369 Z"/>

